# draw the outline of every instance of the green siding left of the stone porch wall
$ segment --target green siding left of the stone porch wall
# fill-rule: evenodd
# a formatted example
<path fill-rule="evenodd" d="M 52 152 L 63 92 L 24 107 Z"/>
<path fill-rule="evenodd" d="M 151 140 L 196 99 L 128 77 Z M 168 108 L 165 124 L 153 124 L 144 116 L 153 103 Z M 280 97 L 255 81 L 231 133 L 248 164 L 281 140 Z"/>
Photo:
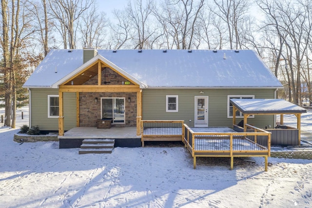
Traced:
<path fill-rule="evenodd" d="M 31 89 L 31 125 L 40 130 L 59 130 L 59 119 L 48 118 L 48 95 L 59 95 L 58 89 Z M 64 93 L 64 130 L 76 126 L 76 93 Z"/>

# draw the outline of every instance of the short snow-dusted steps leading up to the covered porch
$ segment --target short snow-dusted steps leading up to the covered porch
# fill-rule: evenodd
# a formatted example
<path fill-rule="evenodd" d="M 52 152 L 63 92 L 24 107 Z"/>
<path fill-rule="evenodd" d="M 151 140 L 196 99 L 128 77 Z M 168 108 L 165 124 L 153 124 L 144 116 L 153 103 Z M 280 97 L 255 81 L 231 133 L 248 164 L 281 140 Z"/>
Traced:
<path fill-rule="evenodd" d="M 84 139 L 79 154 L 112 153 L 115 145 L 114 139 Z"/>

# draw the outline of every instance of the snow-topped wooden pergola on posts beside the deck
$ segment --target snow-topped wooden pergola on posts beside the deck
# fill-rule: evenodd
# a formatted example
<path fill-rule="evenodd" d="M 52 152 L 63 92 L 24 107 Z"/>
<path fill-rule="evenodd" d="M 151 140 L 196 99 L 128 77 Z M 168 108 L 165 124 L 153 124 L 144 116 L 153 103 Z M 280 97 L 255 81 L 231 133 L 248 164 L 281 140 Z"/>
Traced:
<path fill-rule="evenodd" d="M 300 123 L 301 114 L 307 110 L 291 102 L 283 99 L 230 99 L 233 105 L 233 125 L 236 124 L 236 110 L 239 110 L 244 115 L 244 124 L 247 124 L 247 119 L 251 115 L 278 115 L 281 117 L 281 125 L 283 125 L 283 115 L 293 114 L 297 117 L 298 139 L 300 145 Z M 247 127 L 244 125 L 244 132 L 247 132 Z"/>

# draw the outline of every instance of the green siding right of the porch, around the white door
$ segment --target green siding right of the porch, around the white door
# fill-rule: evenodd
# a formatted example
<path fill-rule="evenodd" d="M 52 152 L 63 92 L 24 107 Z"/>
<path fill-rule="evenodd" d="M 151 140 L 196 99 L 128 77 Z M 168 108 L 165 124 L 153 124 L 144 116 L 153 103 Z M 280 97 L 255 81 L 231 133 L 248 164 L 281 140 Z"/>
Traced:
<path fill-rule="evenodd" d="M 204 94 L 199 94 L 203 91 Z M 232 127 L 227 118 L 228 95 L 254 95 L 254 98 L 274 98 L 274 89 L 143 89 L 143 120 L 184 120 L 194 126 L 195 96 L 208 96 L 208 126 Z M 178 95 L 178 112 L 166 112 L 166 95 Z M 274 125 L 273 115 L 258 115 L 248 123 L 258 127 Z M 192 122 L 189 122 L 192 120 Z M 236 118 L 238 123 L 242 118 Z"/>

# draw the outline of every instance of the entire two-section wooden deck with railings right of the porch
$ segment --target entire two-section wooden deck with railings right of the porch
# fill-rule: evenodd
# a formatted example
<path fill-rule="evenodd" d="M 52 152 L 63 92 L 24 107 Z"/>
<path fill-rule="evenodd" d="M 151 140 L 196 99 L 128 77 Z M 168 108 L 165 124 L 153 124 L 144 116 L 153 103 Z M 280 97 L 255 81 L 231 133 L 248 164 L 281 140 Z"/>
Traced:
<path fill-rule="evenodd" d="M 246 124 L 247 125 L 247 124 Z M 190 128 L 183 121 L 142 121 L 141 142 L 182 141 L 196 157 L 264 157 L 265 171 L 271 152 L 271 132 L 248 125 L 253 132 L 236 132 L 228 127 Z"/>

